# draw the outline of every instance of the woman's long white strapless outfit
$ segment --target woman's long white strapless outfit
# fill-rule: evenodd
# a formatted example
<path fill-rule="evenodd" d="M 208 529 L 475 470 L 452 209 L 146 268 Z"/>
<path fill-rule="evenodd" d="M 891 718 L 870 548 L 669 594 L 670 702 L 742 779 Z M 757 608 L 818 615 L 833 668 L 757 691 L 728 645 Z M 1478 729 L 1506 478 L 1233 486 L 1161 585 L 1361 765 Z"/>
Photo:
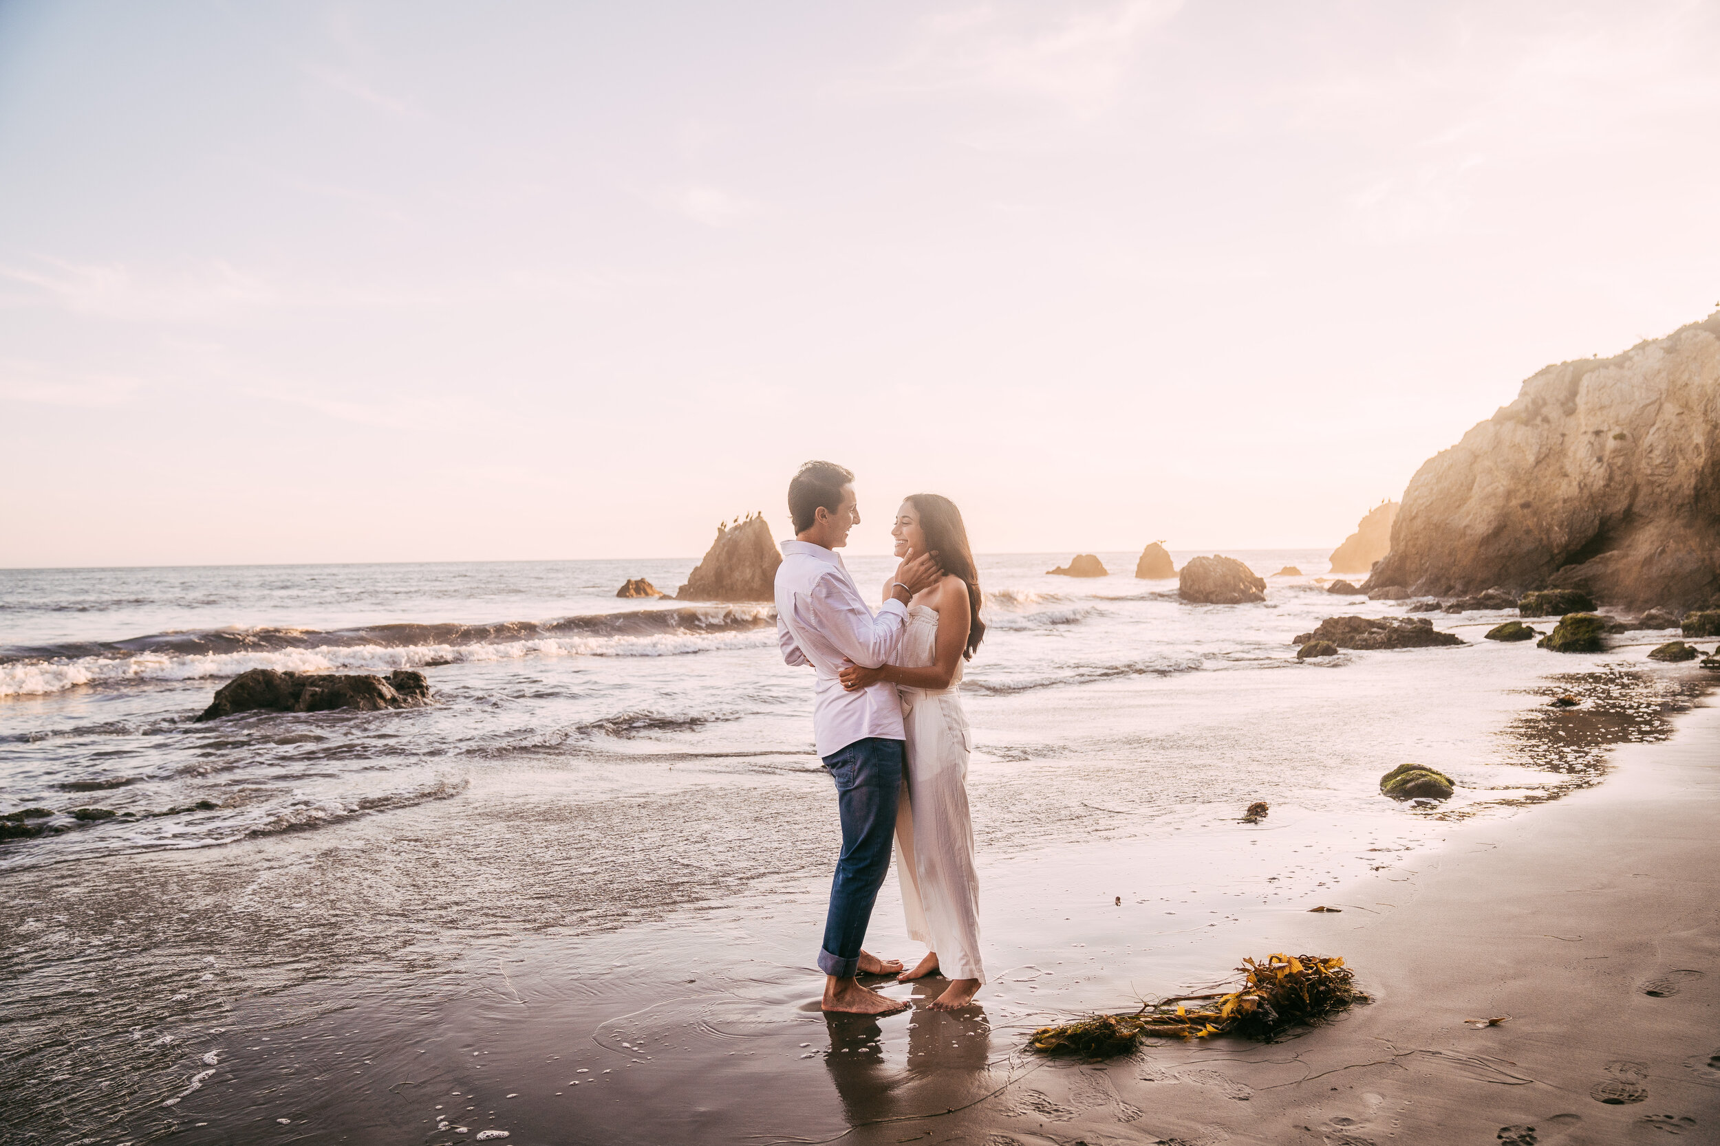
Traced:
<path fill-rule="evenodd" d="M 908 608 L 908 629 L 893 665 L 936 660 L 937 610 Z M 908 735 L 908 773 L 896 809 L 896 871 L 908 935 L 937 952 L 949 979 L 986 981 L 979 959 L 979 876 L 967 808 L 967 761 L 974 747 L 961 713 L 961 661 L 948 689 L 898 686 Z"/>

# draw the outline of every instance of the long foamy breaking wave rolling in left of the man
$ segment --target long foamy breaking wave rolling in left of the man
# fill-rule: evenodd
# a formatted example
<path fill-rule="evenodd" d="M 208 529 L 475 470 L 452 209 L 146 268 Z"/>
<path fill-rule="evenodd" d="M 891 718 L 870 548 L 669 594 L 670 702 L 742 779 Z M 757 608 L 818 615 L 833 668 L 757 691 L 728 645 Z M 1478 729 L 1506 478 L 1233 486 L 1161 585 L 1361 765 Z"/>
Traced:
<path fill-rule="evenodd" d="M 131 641 L 10 648 L 0 696 L 88 684 L 236 677 L 249 668 L 423 668 L 523 656 L 676 656 L 774 643 L 769 605 L 714 605 L 490 625 L 387 624 L 356 629 L 205 629 Z"/>

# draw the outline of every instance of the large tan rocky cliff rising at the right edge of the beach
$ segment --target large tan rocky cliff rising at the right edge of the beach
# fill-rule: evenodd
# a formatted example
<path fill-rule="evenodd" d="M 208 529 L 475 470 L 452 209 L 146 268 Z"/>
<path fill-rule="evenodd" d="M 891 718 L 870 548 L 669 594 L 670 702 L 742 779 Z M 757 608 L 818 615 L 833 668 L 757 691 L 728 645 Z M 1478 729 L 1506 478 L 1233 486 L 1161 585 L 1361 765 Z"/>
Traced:
<path fill-rule="evenodd" d="M 1720 311 L 1548 366 L 1410 479 L 1366 588 L 1584 589 L 1631 608 L 1720 591 Z"/>

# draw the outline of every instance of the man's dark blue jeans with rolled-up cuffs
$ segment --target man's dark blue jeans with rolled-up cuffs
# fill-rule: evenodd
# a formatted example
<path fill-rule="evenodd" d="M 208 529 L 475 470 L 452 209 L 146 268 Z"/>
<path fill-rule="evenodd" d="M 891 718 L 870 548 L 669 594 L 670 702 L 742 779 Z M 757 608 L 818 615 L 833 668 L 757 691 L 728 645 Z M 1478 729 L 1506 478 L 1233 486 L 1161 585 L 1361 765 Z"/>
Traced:
<path fill-rule="evenodd" d="M 824 758 L 824 770 L 836 780 L 836 809 L 843 821 L 843 854 L 831 880 L 831 914 L 819 952 L 824 974 L 851 979 L 860 971 L 860 945 L 896 838 L 905 747 L 903 741 L 872 735 Z"/>

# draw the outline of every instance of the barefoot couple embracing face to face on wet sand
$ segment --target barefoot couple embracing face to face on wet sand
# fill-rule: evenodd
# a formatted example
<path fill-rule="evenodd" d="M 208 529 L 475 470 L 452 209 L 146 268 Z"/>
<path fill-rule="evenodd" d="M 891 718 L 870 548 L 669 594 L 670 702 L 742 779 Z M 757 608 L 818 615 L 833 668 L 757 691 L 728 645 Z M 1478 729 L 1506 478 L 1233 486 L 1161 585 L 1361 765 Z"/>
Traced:
<path fill-rule="evenodd" d="M 943 974 L 949 986 L 931 1007 L 953 1010 L 986 981 L 967 804 L 970 739 L 956 696 L 961 661 L 986 634 L 979 574 L 961 512 L 949 498 L 915 493 L 896 510 L 891 536 L 901 564 L 874 613 L 836 553 L 860 524 L 853 479 L 831 462 L 800 467 L 788 485 L 795 539 L 783 543 L 776 572 L 783 660 L 817 672 L 812 722 L 843 828 L 819 952 L 824 1010 L 906 1009 L 863 986 L 860 974 Z M 912 971 L 862 948 L 893 838 L 908 935 L 929 947 Z"/>

